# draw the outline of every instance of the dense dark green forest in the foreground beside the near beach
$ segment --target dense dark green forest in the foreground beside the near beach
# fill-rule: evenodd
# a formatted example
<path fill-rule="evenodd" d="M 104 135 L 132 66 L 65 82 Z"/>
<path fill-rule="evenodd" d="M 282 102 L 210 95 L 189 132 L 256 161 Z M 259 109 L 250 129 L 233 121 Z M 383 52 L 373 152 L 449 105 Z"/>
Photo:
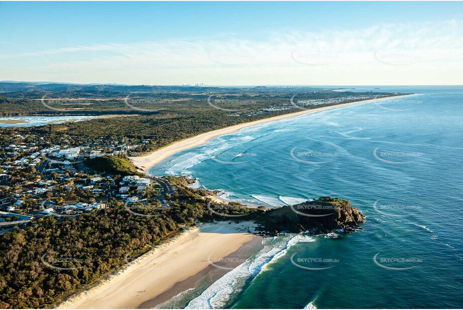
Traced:
<path fill-rule="evenodd" d="M 39 218 L 26 229 L 1 235 L 0 307 L 53 306 L 148 251 L 148 245 L 181 231 L 180 225 L 225 219 L 207 208 L 209 200 L 203 196 L 209 191 L 187 188 L 182 178 L 169 180 L 176 192 L 169 199 L 171 209 L 162 216 L 133 215 L 118 203 L 74 219 Z M 212 208 L 260 212 L 239 204 Z"/>

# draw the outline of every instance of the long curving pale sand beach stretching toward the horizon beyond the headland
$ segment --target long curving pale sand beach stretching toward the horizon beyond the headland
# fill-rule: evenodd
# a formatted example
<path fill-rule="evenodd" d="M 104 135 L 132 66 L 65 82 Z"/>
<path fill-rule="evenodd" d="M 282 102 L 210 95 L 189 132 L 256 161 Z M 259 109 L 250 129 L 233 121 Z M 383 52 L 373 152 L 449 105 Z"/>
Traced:
<path fill-rule="evenodd" d="M 349 102 L 349 103 L 341 103 L 341 104 L 336 104 L 336 105 L 330 105 L 330 106 L 319 107 L 319 108 L 314 108 L 310 110 L 303 110 L 303 111 L 295 112 L 295 113 L 288 113 L 284 115 L 278 115 L 278 116 L 268 117 L 264 119 L 259 119 L 256 121 L 246 122 L 246 123 L 202 133 L 202 134 L 193 136 L 191 138 L 187 138 L 187 139 L 184 139 L 178 142 L 174 142 L 163 148 L 155 150 L 145 156 L 131 157 L 130 160 L 134 163 L 135 166 L 137 166 L 140 169 L 140 171 L 146 173 L 151 167 L 162 162 L 166 158 L 172 156 L 173 154 L 179 151 L 205 144 L 212 138 L 215 138 L 217 136 L 221 136 L 224 134 L 233 133 L 245 127 L 267 123 L 267 122 L 271 122 L 275 120 L 290 118 L 290 117 L 296 117 L 296 116 L 303 115 L 306 113 L 311 113 L 311 112 L 320 111 L 320 110 L 327 110 L 327 109 L 337 108 L 341 106 L 368 103 L 368 102 L 378 102 L 378 101 L 389 100 L 391 98 L 402 98 L 402 97 L 415 96 L 415 95 L 416 94 L 410 94 L 410 95 L 401 95 L 401 96 L 378 98 L 378 99 L 361 100 L 361 101 L 355 101 L 355 102 Z"/>

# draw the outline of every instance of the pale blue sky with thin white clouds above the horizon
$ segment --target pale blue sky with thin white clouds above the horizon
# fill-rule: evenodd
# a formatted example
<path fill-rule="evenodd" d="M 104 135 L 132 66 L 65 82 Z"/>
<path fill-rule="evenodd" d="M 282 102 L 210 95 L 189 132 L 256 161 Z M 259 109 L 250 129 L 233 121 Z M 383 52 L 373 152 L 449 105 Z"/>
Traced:
<path fill-rule="evenodd" d="M 0 80 L 461 85 L 462 2 L 0 2 Z"/>

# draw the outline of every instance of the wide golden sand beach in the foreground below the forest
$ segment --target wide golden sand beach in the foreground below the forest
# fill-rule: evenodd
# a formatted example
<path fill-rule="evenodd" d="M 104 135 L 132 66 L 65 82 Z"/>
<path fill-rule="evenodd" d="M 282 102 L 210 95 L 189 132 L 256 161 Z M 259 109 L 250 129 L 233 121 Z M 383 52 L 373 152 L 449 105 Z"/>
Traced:
<path fill-rule="evenodd" d="M 108 279 L 70 296 L 58 308 L 152 307 L 194 286 L 195 275 L 236 252 L 245 243 L 258 241 L 252 222 L 203 224 L 183 232 L 142 255 Z M 216 268 L 217 269 L 217 268 Z M 193 281 L 188 281 L 188 280 Z M 183 283 L 175 286 L 177 283 Z M 170 291 L 173 290 L 173 291 Z M 160 295 L 162 299 L 159 299 Z M 154 302 L 155 301 L 155 302 Z M 155 304 L 154 304 L 154 303 Z"/>

